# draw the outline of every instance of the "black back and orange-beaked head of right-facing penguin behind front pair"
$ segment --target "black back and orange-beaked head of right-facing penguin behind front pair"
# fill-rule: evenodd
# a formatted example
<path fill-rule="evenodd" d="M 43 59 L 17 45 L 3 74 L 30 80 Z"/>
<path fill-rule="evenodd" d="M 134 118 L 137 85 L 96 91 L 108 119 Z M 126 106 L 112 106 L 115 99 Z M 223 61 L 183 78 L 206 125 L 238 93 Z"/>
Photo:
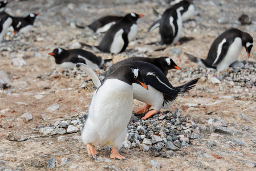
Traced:
<path fill-rule="evenodd" d="M 165 57 L 165 56 L 161 56 L 159 58 L 131 57 L 131 58 L 127 58 L 127 59 L 121 60 L 121 61 L 113 64 L 111 67 L 108 68 L 108 70 L 106 72 L 103 73 L 103 76 L 108 75 L 109 73 L 116 70 L 116 68 L 118 68 L 124 64 L 131 64 L 135 61 L 143 61 L 143 62 L 151 63 L 151 64 L 159 67 L 160 70 L 162 72 L 164 72 L 165 75 L 168 74 L 168 70 L 170 70 L 170 69 L 175 68 L 177 70 L 181 70 L 181 68 L 178 67 L 176 65 L 176 63 L 174 63 L 173 60 L 170 59 L 169 57 Z"/>

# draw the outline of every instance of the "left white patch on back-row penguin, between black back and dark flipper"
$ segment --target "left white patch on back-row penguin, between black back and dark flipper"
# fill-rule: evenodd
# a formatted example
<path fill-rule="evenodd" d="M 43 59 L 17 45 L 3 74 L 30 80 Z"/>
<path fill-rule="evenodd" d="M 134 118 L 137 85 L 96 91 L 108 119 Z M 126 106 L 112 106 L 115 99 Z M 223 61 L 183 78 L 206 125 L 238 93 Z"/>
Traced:
<path fill-rule="evenodd" d="M 113 38 L 113 42 L 110 47 L 111 53 L 119 53 L 122 50 L 122 48 L 124 46 L 124 40 L 122 38 L 123 32 L 124 32 L 123 29 L 116 32 L 116 34 Z"/>

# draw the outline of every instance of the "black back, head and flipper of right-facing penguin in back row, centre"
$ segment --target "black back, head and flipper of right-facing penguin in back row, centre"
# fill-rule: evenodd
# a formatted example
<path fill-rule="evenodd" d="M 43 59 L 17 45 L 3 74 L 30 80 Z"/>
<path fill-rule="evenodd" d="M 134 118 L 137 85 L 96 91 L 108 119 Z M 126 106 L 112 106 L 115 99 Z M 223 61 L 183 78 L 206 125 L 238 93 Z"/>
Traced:
<path fill-rule="evenodd" d="M 135 13 L 134 13 L 135 14 Z M 125 15 L 124 18 L 122 18 L 119 22 L 117 22 L 115 25 L 113 25 L 109 30 L 105 33 L 103 39 L 101 40 L 99 46 L 100 51 L 102 52 L 110 52 L 110 47 L 113 42 L 113 38 L 117 31 L 123 29 L 123 40 L 124 40 L 124 46 L 120 52 L 123 52 L 127 46 L 128 46 L 128 33 L 131 29 L 131 26 L 137 22 L 137 19 L 139 18 L 138 14 L 135 14 L 136 16 L 133 17 L 131 14 Z"/>

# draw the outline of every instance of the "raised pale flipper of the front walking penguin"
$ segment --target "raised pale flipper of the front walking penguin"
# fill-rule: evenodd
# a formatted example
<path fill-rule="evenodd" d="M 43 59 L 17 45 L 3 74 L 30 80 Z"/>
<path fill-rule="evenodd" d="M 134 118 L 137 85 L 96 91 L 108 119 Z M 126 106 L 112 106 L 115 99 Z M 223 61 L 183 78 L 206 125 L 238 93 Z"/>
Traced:
<path fill-rule="evenodd" d="M 92 68 L 88 67 L 86 64 L 84 63 L 77 63 L 76 67 L 78 67 L 79 69 L 85 71 L 90 78 L 92 79 L 92 82 L 94 82 L 95 86 L 97 88 L 99 88 L 101 86 L 101 84 L 103 83 L 102 80 L 99 78 L 99 76 L 97 76 L 97 74 L 94 72 L 94 70 L 92 70 Z"/>

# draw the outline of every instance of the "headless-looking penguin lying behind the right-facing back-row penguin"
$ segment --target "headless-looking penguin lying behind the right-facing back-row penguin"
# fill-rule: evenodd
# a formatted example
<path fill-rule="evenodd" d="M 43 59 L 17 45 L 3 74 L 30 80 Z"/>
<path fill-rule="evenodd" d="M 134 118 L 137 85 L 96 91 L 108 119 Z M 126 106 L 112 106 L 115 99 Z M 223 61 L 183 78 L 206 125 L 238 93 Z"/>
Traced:
<path fill-rule="evenodd" d="M 115 25 L 115 23 L 120 21 L 122 18 L 124 17 L 107 15 L 105 17 L 101 17 L 96 21 L 92 22 L 91 25 L 88 25 L 88 27 L 96 33 L 106 32 L 112 25 Z"/>

